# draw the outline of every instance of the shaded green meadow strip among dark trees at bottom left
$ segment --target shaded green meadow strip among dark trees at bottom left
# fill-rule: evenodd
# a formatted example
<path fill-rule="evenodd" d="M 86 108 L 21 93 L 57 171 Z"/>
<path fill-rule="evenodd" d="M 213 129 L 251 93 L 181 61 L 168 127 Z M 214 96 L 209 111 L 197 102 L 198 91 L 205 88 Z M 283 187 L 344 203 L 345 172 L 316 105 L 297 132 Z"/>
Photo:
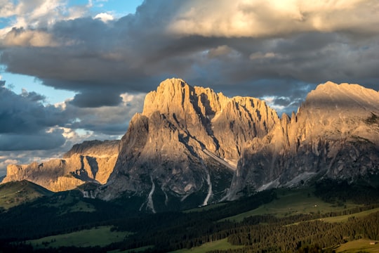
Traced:
<path fill-rule="evenodd" d="M 77 247 L 92 247 L 105 246 L 112 242 L 119 242 L 131 233 L 110 231 L 110 226 L 102 226 L 74 233 L 63 235 L 53 235 L 37 240 L 29 240 L 35 248 L 62 247 L 62 246 L 77 246 Z"/>

